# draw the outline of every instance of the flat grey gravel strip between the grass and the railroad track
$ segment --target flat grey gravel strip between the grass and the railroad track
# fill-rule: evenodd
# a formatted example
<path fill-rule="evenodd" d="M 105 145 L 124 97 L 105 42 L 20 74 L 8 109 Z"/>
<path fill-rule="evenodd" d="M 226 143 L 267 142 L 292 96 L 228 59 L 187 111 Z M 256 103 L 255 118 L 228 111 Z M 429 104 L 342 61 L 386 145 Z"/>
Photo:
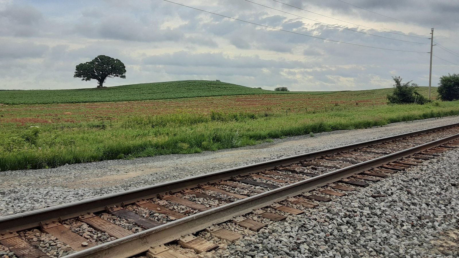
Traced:
<path fill-rule="evenodd" d="M 459 117 L 432 118 L 370 129 L 320 133 L 314 137 L 288 137 L 276 139 L 274 143 L 229 150 L 3 171 L 0 172 L 0 216 L 458 122 Z"/>

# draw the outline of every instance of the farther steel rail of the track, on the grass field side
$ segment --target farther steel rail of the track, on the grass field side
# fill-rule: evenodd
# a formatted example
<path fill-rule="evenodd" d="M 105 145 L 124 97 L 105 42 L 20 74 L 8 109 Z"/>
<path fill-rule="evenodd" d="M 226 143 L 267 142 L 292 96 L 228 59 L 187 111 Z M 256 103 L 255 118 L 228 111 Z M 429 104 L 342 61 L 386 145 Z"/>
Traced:
<path fill-rule="evenodd" d="M 386 141 L 397 140 L 404 137 L 420 135 L 431 131 L 447 129 L 456 126 L 459 126 L 459 123 L 453 123 L 429 129 L 418 130 L 405 134 L 388 136 L 375 140 L 363 141 L 356 144 L 349 144 L 345 146 L 329 148 L 322 151 L 308 152 L 305 154 L 299 154 L 291 157 L 285 157 L 262 163 L 225 169 L 209 174 L 202 174 L 184 179 L 178 179 L 157 185 L 149 185 L 128 191 L 122 191 L 119 193 L 94 197 L 78 202 L 66 203 L 62 205 L 53 206 L 50 208 L 43 208 L 25 213 L 13 214 L 10 216 L 0 218 L 0 233 L 27 230 L 34 227 L 39 227 L 40 223 L 72 219 L 78 217 L 83 213 L 88 212 L 101 212 L 106 210 L 106 207 L 112 207 L 115 205 L 128 205 L 141 199 L 149 199 L 156 197 L 157 194 L 160 193 L 165 193 L 169 191 L 178 192 L 182 189 L 194 188 L 200 184 L 202 185 L 207 182 L 213 183 L 219 180 L 230 179 L 232 176 L 237 176 L 240 174 L 244 175 L 249 173 L 257 173 L 266 169 L 272 169 L 277 166 L 285 166 L 292 163 L 297 163 L 302 160 L 311 159 L 314 157 L 321 157 L 341 151 L 349 151 L 364 146 L 375 145 Z"/>

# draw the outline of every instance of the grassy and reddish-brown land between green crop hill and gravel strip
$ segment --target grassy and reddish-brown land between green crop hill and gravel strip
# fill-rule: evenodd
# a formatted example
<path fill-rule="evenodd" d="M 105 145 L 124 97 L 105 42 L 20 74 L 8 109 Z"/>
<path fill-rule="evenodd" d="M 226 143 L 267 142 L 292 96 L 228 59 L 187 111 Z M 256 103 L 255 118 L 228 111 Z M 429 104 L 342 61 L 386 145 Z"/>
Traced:
<path fill-rule="evenodd" d="M 0 106 L 0 169 L 218 150 L 459 114 L 458 101 L 386 105 L 390 91 Z"/>

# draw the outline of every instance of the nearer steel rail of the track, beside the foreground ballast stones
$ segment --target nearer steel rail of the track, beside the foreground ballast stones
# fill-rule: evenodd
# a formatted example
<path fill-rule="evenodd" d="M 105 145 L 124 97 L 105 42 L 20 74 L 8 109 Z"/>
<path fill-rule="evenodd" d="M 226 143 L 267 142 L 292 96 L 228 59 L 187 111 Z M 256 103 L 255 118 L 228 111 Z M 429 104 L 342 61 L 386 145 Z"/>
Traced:
<path fill-rule="evenodd" d="M 67 255 L 66 258 L 126 258 L 133 256 L 138 253 L 145 252 L 150 247 L 174 241 L 182 236 L 203 230 L 213 224 L 223 223 L 235 216 L 250 213 L 255 209 L 266 207 L 273 202 L 285 200 L 288 196 L 297 196 L 302 192 L 310 191 L 319 186 L 336 182 L 339 179 L 349 177 L 369 168 L 374 168 L 403 157 L 408 157 L 414 153 L 418 153 L 433 146 L 441 145 L 457 138 L 459 138 L 459 134 L 451 135 L 419 146 L 414 146 L 403 151 L 398 151 L 386 156 L 354 164 L 346 168 L 337 169 L 291 185 L 285 185 L 271 191 L 250 196 L 236 202 L 231 202 L 202 213 L 196 213 L 183 219 L 162 224 L 149 230 L 141 231 L 111 242 L 106 242 L 96 247 L 75 252 Z"/>

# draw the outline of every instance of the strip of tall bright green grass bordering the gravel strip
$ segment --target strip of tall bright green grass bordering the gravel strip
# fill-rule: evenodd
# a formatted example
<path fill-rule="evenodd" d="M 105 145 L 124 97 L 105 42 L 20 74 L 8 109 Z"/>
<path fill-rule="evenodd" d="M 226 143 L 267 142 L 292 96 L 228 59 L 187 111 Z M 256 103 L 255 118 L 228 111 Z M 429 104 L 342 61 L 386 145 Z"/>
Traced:
<path fill-rule="evenodd" d="M 104 127 L 81 123 L 73 128 L 41 131 L 9 128 L 0 134 L 0 169 L 51 168 L 66 163 L 215 151 L 285 136 L 459 115 L 458 104 L 387 105 L 288 116 L 264 112 L 139 115 Z"/>

